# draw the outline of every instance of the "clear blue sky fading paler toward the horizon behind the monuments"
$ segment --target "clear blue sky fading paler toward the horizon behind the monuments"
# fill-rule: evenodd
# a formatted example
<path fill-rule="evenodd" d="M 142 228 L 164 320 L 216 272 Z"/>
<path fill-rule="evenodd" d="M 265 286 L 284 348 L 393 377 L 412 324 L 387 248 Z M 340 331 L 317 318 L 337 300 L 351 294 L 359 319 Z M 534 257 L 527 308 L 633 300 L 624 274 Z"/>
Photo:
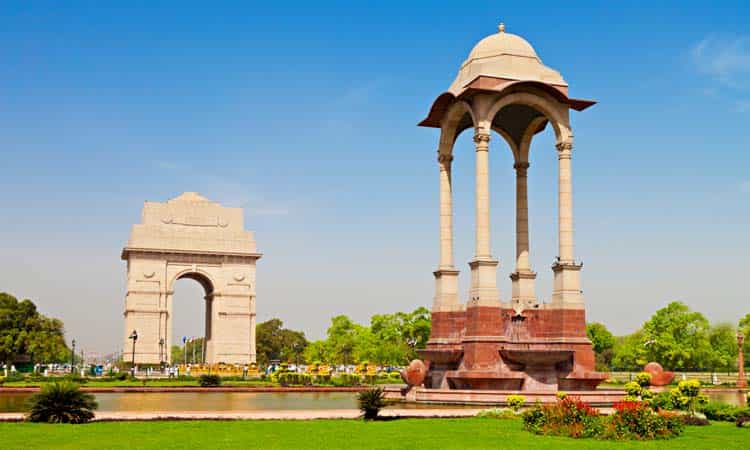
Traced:
<path fill-rule="evenodd" d="M 429 306 L 437 132 L 418 128 L 472 46 L 507 30 L 562 72 L 575 113 L 577 256 L 590 320 L 616 333 L 682 300 L 750 312 L 750 7 L 746 2 L 4 2 L 0 290 L 62 318 L 90 351 L 122 338 L 119 260 L 144 200 L 198 191 L 246 210 L 266 256 L 260 320 Z M 623 2 L 621 2 L 623 3 Z M 551 132 L 529 171 L 532 263 L 556 255 Z M 473 242 L 473 151 L 458 142 L 456 259 Z M 501 295 L 513 170 L 492 153 Z M 175 333 L 202 334 L 196 284 Z"/>

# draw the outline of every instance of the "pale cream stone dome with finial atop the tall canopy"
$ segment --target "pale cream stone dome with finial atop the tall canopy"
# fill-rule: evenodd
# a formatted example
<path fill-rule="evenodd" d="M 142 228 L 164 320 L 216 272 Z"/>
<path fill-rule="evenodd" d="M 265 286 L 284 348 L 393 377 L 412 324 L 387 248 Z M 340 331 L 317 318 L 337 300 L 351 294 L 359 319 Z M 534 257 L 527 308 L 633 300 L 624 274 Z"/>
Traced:
<path fill-rule="evenodd" d="M 500 24 L 497 34 L 487 36 L 474 46 L 450 92 L 458 95 L 479 76 L 567 86 L 559 72 L 542 64 L 531 44 L 520 36 L 506 33 L 504 24 Z"/>

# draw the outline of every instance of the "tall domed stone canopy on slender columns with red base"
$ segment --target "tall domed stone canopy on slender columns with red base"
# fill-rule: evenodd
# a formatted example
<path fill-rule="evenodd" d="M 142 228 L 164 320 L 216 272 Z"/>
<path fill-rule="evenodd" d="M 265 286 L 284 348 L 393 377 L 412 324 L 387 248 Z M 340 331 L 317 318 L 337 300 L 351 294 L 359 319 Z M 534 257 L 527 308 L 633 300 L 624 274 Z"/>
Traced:
<path fill-rule="evenodd" d="M 497 33 L 476 44 L 448 91 L 435 99 L 419 124 L 440 130 L 440 259 L 434 271 L 432 334 L 421 351 L 424 390 L 417 396 L 450 401 L 475 398 L 451 396 L 452 390 L 582 391 L 596 388 L 606 378 L 594 371 L 580 283 L 583 265 L 576 260 L 573 239 L 570 111 L 583 111 L 594 103 L 571 98 L 560 73 L 545 66 L 527 41 L 507 33 L 501 24 Z M 541 304 L 535 294 L 536 272 L 529 263 L 528 211 L 533 205 L 528 204 L 526 182 L 533 174 L 532 141 L 548 128 L 555 135 L 555 148 L 535 151 L 557 153 L 558 256 L 551 267 L 551 301 Z M 475 252 L 469 261 L 471 288 L 462 302 L 453 259 L 451 162 L 456 138 L 466 130 L 474 133 L 476 222 Z M 493 131 L 505 145 L 490 145 Z M 506 146 L 514 157 L 516 192 L 516 258 L 509 297 L 498 287 L 499 261 L 490 241 L 488 165 L 489 152 L 506 151 Z"/>

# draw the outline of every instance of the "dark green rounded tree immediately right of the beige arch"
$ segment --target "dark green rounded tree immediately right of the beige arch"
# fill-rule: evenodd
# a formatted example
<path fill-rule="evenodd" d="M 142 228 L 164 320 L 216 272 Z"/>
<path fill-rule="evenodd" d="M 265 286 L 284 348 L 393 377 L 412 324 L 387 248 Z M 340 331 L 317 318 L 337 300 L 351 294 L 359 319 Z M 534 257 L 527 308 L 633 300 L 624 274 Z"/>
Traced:
<path fill-rule="evenodd" d="M 268 365 L 274 359 L 301 362 L 307 347 L 307 338 L 301 331 L 284 328 L 284 322 L 280 319 L 271 319 L 256 327 L 255 346 L 260 365 Z"/>

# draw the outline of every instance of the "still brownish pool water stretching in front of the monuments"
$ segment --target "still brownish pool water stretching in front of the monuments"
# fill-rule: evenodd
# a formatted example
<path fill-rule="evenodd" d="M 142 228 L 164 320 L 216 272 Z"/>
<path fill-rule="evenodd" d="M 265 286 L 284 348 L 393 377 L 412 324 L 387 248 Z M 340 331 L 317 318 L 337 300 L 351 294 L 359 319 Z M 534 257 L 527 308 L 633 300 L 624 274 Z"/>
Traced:
<path fill-rule="evenodd" d="M 714 401 L 744 405 L 741 391 L 706 391 Z M 30 393 L 0 394 L 0 412 L 26 410 Z M 260 411 L 284 409 L 356 409 L 352 392 L 107 392 L 96 394 L 99 411 Z M 399 408 L 440 408 L 400 403 Z M 455 406 L 452 406 L 455 407 Z"/>

